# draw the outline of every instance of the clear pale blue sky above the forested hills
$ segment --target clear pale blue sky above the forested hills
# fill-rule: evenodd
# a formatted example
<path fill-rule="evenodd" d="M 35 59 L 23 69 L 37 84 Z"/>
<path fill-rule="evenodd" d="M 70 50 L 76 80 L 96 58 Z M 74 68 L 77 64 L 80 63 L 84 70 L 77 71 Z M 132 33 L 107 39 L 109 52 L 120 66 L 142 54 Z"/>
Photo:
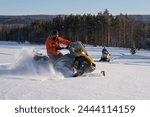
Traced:
<path fill-rule="evenodd" d="M 150 14 L 150 0 L 0 0 L 0 15 Z"/>

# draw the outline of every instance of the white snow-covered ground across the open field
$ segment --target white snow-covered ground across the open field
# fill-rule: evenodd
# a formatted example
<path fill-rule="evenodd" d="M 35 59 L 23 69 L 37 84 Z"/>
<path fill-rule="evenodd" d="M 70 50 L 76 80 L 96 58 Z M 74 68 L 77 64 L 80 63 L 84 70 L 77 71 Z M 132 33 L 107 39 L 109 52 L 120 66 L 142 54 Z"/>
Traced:
<path fill-rule="evenodd" d="M 96 70 L 72 78 L 51 65 L 37 65 L 32 59 L 34 48 L 46 52 L 44 45 L 0 43 L 0 99 L 150 99 L 150 51 L 131 55 L 129 49 L 108 48 L 112 59 L 104 63 L 98 62 L 102 47 L 86 47 Z"/>

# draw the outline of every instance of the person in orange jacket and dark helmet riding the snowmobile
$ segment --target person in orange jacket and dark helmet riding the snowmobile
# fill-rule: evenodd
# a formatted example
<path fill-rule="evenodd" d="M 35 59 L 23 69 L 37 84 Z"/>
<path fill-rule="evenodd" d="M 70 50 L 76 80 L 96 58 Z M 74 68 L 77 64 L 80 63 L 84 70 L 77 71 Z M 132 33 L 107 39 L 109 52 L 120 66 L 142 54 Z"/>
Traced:
<path fill-rule="evenodd" d="M 71 41 L 60 37 L 57 30 L 52 30 L 50 36 L 48 36 L 46 40 L 47 55 L 50 59 L 55 61 L 62 56 L 60 44 L 69 46 Z"/>

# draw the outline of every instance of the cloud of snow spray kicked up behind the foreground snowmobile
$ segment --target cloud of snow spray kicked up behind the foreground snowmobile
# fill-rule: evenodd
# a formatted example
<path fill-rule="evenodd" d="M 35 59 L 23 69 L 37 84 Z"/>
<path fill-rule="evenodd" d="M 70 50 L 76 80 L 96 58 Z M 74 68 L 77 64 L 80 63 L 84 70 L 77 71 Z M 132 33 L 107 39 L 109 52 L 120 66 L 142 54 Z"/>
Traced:
<path fill-rule="evenodd" d="M 33 60 L 33 47 L 23 47 L 16 53 L 15 62 L 0 66 L 0 74 L 10 77 L 45 80 L 62 79 L 64 76 L 57 72 L 53 65 L 48 62 L 36 62 Z"/>

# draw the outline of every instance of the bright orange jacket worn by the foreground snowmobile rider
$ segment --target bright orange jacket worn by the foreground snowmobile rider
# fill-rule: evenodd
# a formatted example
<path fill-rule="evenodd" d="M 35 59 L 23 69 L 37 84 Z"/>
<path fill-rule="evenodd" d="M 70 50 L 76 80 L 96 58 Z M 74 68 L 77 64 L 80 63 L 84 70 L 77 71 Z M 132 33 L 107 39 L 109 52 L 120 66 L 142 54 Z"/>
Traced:
<path fill-rule="evenodd" d="M 60 54 L 60 50 L 56 50 L 55 47 L 60 47 L 59 44 L 64 44 L 64 45 L 69 45 L 71 41 L 66 40 L 62 37 L 57 37 L 57 39 L 54 41 L 51 39 L 51 37 L 47 37 L 46 40 L 46 49 L 47 49 L 47 54 L 48 55 L 58 55 Z"/>

